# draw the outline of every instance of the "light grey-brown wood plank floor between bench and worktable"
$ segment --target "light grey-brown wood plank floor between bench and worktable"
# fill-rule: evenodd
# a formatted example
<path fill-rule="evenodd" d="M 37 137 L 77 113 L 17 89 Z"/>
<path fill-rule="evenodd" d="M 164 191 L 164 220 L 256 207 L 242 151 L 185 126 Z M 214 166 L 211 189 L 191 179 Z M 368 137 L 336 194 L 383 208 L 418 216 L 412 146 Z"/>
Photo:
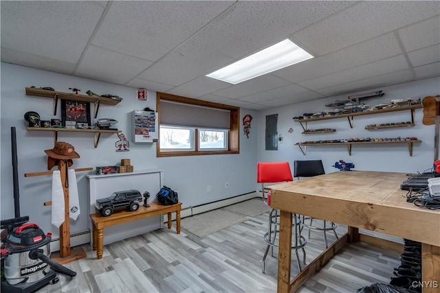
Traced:
<path fill-rule="evenodd" d="M 87 258 L 65 265 L 76 277 L 58 274 L 58 283 L 38 292 L 276 292 L 277 251 L 267 257 L 265 274 L 261 272 L 267 215 L 248 217 L 205 237 L 192 235 L 184 226 L 180 235 L 175 228 L 159 229 L 104 246 L 100 260 L 88 245 L 82 246 Z M 338 235 L 345 231 L 338 227 Z M 335 239 L 333 233 L 328 238 Z M 312 231 L 307 263 L 324 247 L 322 235 Z M 292 258 L 294 275 L 294 253 Z M 399 253 L 350 244 L 299 292 L 356 292 L 372 283 L 389 283 L 397 266 Z"/>

